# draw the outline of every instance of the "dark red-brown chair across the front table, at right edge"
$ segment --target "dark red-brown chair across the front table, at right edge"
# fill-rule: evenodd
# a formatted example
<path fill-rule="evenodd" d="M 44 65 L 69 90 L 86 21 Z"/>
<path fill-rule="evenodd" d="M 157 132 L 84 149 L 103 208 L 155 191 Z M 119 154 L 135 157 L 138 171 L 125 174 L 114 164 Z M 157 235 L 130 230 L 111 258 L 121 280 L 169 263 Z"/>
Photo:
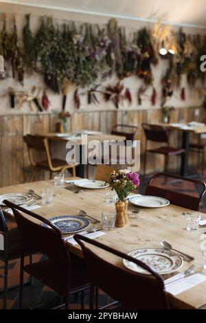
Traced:
<path fill-rule="evenodd" d="M 198 211 L 205 190 L 206 185 L 203 181 L 160 172 L 152 176 L 145 194 L 163 197 L 174 205 Z"/>

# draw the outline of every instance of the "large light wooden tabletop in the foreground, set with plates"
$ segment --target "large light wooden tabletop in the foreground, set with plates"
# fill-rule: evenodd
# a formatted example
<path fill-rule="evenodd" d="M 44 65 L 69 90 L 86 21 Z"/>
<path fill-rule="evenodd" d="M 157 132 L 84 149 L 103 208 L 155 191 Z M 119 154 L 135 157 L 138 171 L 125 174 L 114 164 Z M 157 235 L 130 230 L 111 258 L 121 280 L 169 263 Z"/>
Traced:
<path fill-rule="evenodd" d="M 0 188 L 0 194 L 27 192 L 28 189 L 33 189 L 39 194 L 41 188 L 49 187 L 52 184 L 52 181 L 40 181 L 8 186 Z M 49 219 L 60 214 L 76 214 L 77 210 L 80 209 L 87 211 L 88 214 L 96 219 L 101 219 L 102 210 L 113 212 L 115 206 L 106 204 L 105 190 L 83 190 L 82 193 L 76 194 L 71 190 L 54 186 L 53 203 L 51 205 L 42 205 L 42 208 L 36 209 L 34 212 Z M 176 205 L 169 205 L 161 209 L 144 209 L 139 214 L 139 219 L 129 219 L 129 223 L 125 227 L 115 228 L 97 239 L 126 253 L 141 247 L 160 247 L 159 241 L 168 241 L 172 243 L 175 249 L 180 249 L 195 256 L 196 271 L 198 271 L 203 269 L 200 234 L 205 232 L 205 229 L 198 230 L 199 235 L 187 232 L 185 229 L 186 219 L 185 215 L 183 215 L 185 211 L 187 210 Z M 202 215 L 203 217 L 205 216 L 205 214 Z M 82 251 L 78 245 L 69 243 L 67 245 L 69 252 L 82 256 Z M 96 249 L 96 252 L 108 259 L 110 263 L 123 267 L 122 260 L 116 256 L 102 252 L 100 249 Z M 191 263 L 184 263 L 180 271 L 187 269 L 190 265 Z M 206 275 L 206 271 L 204 271 L 204 274 Z M 206 308 L 205 290 L 206 282 L 203 282 L 177 296 L 170 295 L 170 302 L 180 309 Z"/>

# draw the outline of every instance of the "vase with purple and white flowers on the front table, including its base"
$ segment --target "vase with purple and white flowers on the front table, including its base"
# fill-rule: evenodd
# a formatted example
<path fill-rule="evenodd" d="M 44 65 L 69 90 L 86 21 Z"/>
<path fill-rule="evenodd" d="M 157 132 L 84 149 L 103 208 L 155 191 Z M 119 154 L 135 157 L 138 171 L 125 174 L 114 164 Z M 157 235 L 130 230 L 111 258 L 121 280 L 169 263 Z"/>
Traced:
<path fill-rule="evenodd" d="M 130 170 L 113 170 L 111 172 L 109 183 L 112 190 L 115 190 L 118 196 L 118 201 L 115 203 L 116 207 L 116 227 L 124 227 L 128 222 L 127 208 L 128 208 L 128 194 L 133 192 L 139 186 L 139 175 L 137 172 Z"/>

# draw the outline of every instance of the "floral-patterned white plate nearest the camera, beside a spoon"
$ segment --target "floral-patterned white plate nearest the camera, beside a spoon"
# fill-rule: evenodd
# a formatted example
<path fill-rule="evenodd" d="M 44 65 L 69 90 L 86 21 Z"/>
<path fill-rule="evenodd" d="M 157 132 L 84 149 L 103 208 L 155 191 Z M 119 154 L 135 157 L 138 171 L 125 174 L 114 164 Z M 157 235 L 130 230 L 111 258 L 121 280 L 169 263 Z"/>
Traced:
<path fill-rule="evenodd" d="M 150 268 L 160 275 L 171 274 L 183 265 L 183 259 L 175 252 L 170 252 L 165 249 L 158 248 L 144 248 L 137 249 L 130 252 L 128 256 L 141 260 L 146 263 Z M 150 273 L 145 269 L 137 266 L 135 263 L 123 259 L 126 268 L 133 270 L 137 273 L 148 274 Z"/>

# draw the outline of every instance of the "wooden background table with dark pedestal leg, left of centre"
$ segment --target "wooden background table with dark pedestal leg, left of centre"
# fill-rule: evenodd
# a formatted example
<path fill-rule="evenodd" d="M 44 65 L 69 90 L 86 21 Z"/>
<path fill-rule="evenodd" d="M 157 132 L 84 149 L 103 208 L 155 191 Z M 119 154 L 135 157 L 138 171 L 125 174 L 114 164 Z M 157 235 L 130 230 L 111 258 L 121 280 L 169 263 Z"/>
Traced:
<path fill-rule="evenodd" d="M 80 161 L 82 160 L 82 135 L 87 135 L 87 142 L 98 140 L 103 144 L 105 141 L 124 141 L 126 137 L 123 135 L 112 135 L 111 133 L 101 133 L 100 131 L 82 131 L 80 133 L 42 133 L 41 136 L 47 138 L 50 142 L 67 143 L 75 141 L 80 146 Z M 85 177 L 85 165 L 79 164 L 76 166 L 76 175 Z"/>

